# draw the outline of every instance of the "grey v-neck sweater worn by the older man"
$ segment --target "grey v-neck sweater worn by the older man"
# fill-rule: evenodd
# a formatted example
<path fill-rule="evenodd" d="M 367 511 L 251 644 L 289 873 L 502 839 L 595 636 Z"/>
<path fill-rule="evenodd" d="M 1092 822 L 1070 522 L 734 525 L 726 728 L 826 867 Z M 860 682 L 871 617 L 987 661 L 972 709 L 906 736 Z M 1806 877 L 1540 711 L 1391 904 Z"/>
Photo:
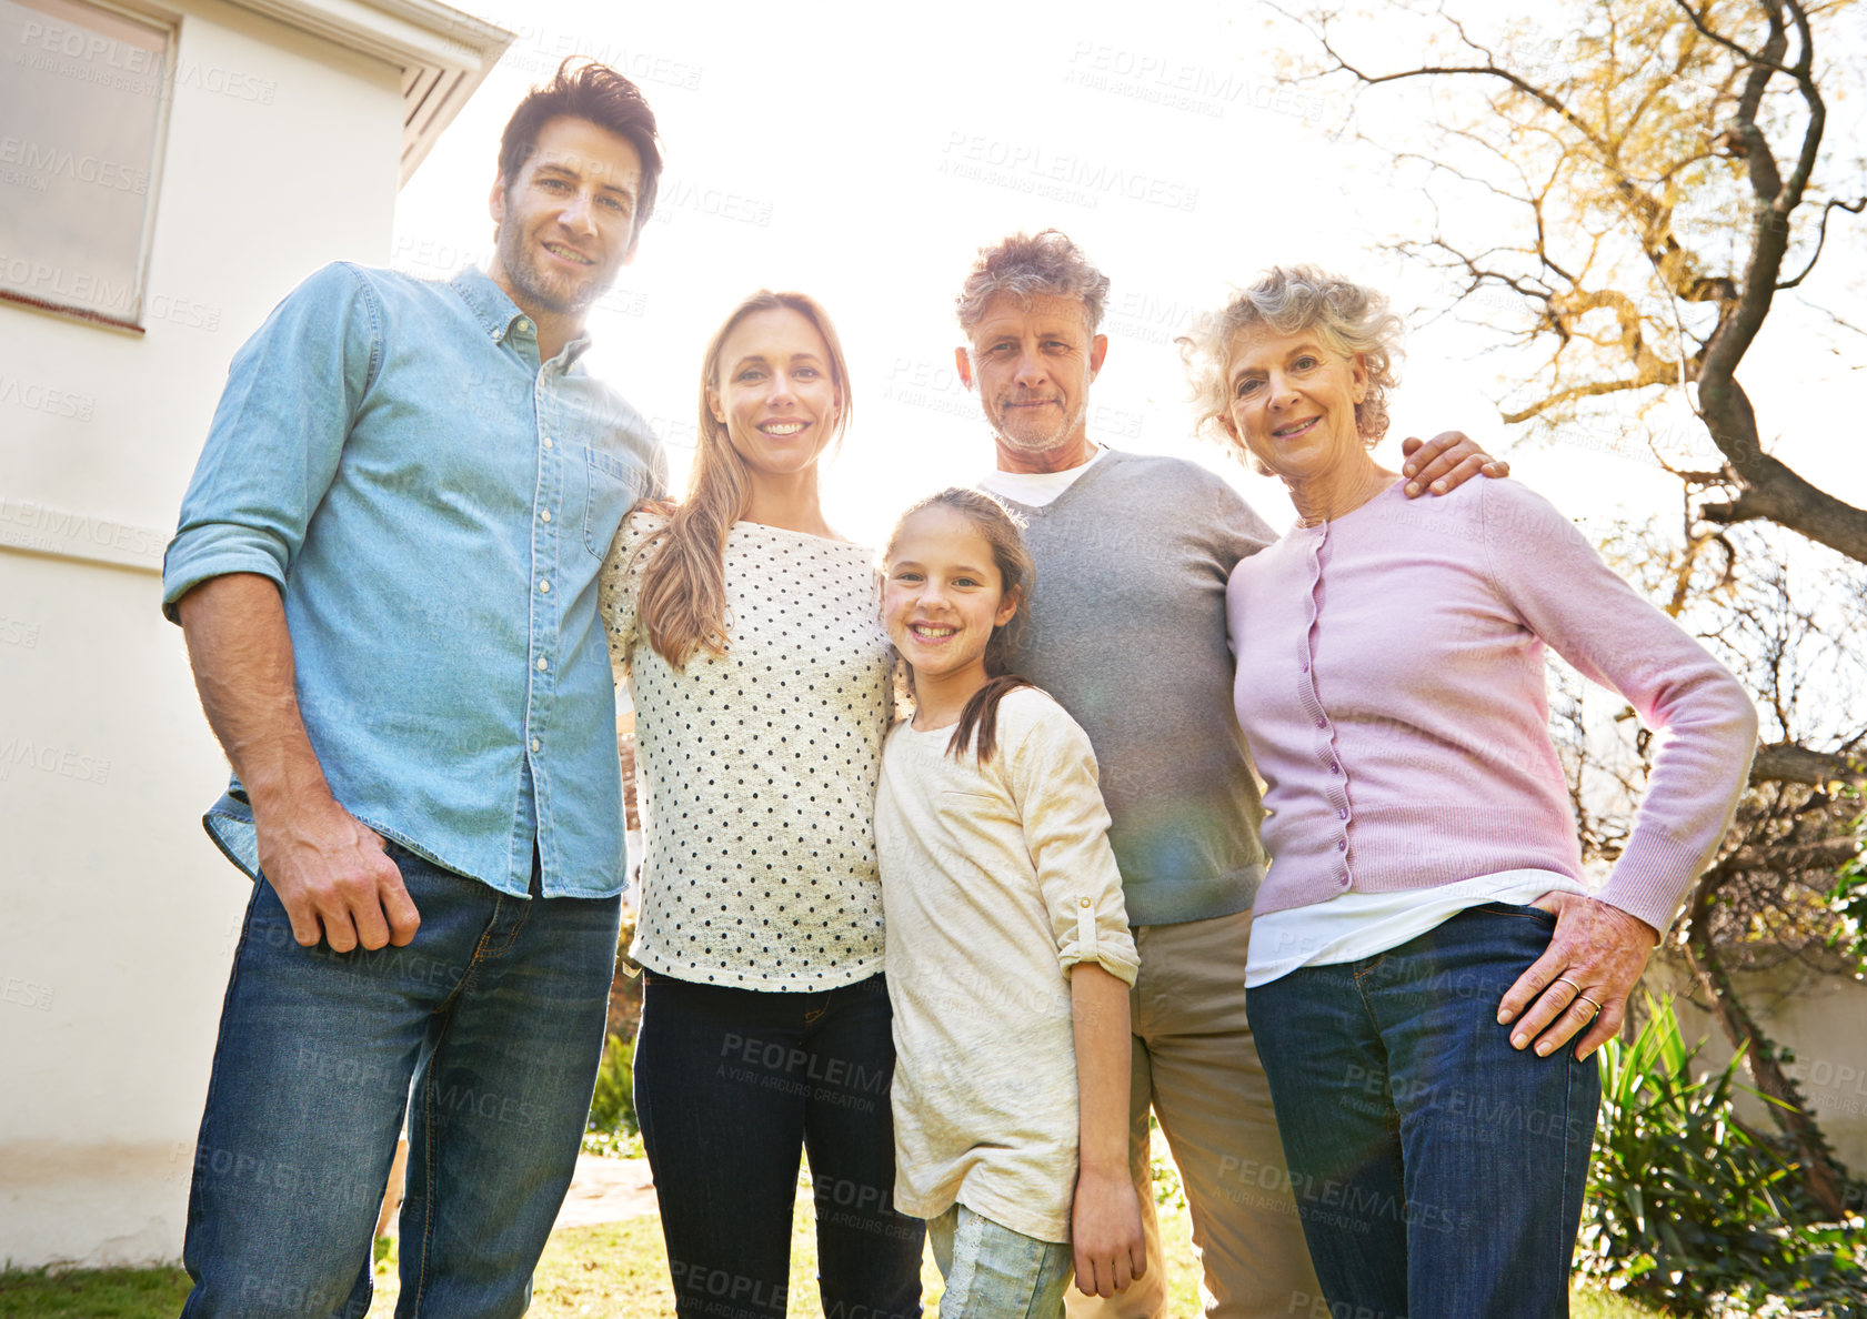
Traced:
<path fill-rule="evenodd" d="M 1012 668 L 1088 733 L 1128 920 L 1251 907 L 1264 806 L 1232 716 L 1225 584 L 1277 539 L 1202 466 L 1109 450 L 1025 517 L 1036 582 Z"/>

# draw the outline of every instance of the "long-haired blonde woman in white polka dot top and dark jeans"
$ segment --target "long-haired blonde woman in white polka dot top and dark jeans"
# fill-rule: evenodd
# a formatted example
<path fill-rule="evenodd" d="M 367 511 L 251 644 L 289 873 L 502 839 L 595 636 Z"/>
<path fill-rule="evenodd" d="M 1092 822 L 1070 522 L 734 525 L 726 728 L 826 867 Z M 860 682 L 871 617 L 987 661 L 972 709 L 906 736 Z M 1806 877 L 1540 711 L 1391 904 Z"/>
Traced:
<path fill-rule="evenodd" d="M 892 653 L 874 554 L 818 502 L 848 420 L 823 310 L 752 295 L 708 345 L 687 498 L 625 519 L 599 575 L 648 840 L 635 1106 L 683 1315 L 784 1315 L 801 1149 L 825 1313 L 920 1313 L 874 843 Z"/>

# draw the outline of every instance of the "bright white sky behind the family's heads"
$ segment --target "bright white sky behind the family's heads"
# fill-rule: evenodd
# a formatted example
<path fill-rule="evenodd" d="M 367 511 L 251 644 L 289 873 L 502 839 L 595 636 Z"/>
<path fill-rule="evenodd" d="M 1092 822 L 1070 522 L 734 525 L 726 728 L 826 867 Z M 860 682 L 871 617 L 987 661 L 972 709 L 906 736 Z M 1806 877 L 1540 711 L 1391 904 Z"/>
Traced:
<path fill-rule="evenodd" d="M 1113 280 L 1090 437 L 1206 463 L 1273 526 L 1292 521 L 1283 489 L 1189 438 L 1172 336 L 1273 261 L 1341 269 L 1400 310 L 1443 300 L 1430 272 L 1372 248 L 1417 220 L 1417 194 L 1397 196 L 1380 160 L 1326 136 L 1339 90 L 1279 80 L 1281 52 L 1301 43 L 1260 6 L 709 2 L 631 6 L 627 21 L 594 0 L 461 7 L 519 39 L 403 188 L 394 263 L 435 276 L 484 263 L 512 106 L 566 54 L 616 65 L 653 104 L 668 166 L 637 263 L 592 315 L 592 369 L 663 438 L 691 444 L 700 351 L 724 313 L 760 285 L 818 297 L 855 396 L 825 504 L 864 543 L 917 494 L 991 463 L 952 373 L 952 299 L 975 250 L 1008 231 L 1060 228 Z M 1833 106 L 1830 142 L 1863 138 L 1861 97 Z M 1837 220 L 1832 254 L 1860 274 L 1848 248 L 1867 250 L 1867 222 Z M 1867 325 L 1863 299 L 1843 312 Z M 1792 334 L 1779 315 L 1779 341 L 1742 373 L 1766 437 L 1811 479 L 1867 502 L 1867 338 L 1817 334 L 1818 317 L 1800 312 Z M 1495 407 L 1510 364 L 1475 360 L 1484 343 L 1453 323 L 1410 338 L 1382 457 L 1397 466 L 1400 437 L 1456 427 L 1576 517 L 1677 515 L 1678 483 L 1650 459 L 1600 451 L 1598 433 L 1512 448 Z M 670 451 L 676 485 L 681 455 Z"/>

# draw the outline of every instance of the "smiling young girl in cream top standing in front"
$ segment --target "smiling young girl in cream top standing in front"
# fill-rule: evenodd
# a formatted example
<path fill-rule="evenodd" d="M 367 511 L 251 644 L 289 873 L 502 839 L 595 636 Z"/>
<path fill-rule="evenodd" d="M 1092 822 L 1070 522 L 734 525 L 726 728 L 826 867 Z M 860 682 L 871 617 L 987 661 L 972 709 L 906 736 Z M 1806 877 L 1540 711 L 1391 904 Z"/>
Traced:
<path fill-rule="evenodd" d="M 1135 944 L 1088 737 L 1004 672 L 1016 522 L 950 489 L 883 552 L 915 716 L 881 756 L 894 1205 L 928 1218 L 941 1319 L 1062 1315 L 1144 1270 L 1128 1175 Z M 1074 1243 L 1074 1259 L 1072 1244 Z"/>

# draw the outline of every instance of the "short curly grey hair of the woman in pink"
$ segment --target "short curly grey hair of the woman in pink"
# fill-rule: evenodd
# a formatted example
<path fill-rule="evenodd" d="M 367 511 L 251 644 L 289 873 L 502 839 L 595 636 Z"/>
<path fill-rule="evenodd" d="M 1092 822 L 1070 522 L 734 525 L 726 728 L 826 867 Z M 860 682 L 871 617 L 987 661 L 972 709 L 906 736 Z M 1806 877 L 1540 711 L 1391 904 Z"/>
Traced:
<path fill-rule="evenodd" d="M 1359 353 L 1367 364 L 1369 388 L 1355 405 L 1355 429 L 1369 448 L 1387 435 L 1387 390 L 1400 382 L 1395 362 L 1400 356 L 1402 325 L 1387 310 L 1385 295 L 1313 265 L 1273 265 L 1234 293 L 1217 313 L 1200 317 L 1191 334 L 1174 340 L 1193 386 L 1197 429 L 1230 442 L 1236 438 L 1228 427 L 1227 375 L 1232 340 L 1240 330 L 1314 330 L 1333 353 L 1344 358 Z"/>

